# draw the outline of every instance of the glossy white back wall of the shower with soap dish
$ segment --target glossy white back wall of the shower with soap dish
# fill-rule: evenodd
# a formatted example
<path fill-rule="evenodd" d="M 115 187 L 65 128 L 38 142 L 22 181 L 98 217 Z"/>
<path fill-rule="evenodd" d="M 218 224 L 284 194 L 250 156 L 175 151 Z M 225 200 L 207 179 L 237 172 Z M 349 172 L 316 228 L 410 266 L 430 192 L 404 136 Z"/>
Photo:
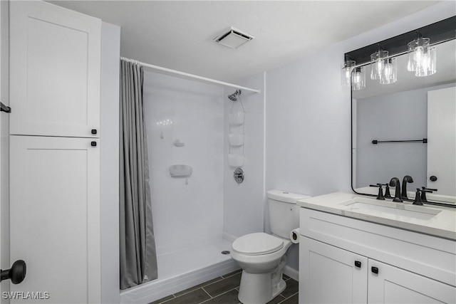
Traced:
<path fill-rule="evenodd" d="M 224 99 L 218 86 L 145 72 L 157 254 L 222 238 Z M 173 164 L 191 166 L 192 175 L 171 177 Z"/>

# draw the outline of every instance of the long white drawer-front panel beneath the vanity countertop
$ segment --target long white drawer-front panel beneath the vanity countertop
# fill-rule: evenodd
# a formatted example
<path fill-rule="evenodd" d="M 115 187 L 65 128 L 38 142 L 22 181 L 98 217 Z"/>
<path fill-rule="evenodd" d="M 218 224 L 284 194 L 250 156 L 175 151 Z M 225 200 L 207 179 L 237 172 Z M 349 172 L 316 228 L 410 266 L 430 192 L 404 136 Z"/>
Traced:
<path fill-rule="evenodd" d="M 301 235 L 456 286 L 456 243 L 301 208 Z"/>

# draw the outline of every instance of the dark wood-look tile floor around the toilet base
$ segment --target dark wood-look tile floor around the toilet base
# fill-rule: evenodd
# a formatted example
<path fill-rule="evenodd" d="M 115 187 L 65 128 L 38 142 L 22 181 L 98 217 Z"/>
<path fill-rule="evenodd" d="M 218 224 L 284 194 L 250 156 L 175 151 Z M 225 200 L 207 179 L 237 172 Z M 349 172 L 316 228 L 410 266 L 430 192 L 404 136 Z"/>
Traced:
<path fill-rule="evenodd" d="M 242 270 L 239 269 L 187 290 L 169 295 L 150 304 L 238 304 L 239 283 Z M 298 282 L 284 275 L 286 289 L 268 304 L 297 304 Z"/>

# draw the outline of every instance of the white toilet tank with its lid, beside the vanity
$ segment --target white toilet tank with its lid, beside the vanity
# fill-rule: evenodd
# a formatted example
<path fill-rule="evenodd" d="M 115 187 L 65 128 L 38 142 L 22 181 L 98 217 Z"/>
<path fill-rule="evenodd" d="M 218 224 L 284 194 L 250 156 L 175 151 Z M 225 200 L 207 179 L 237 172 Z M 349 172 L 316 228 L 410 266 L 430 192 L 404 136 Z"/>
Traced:
<path fill-rule="evenodd" d="M 300 206 L 296 201 L 310 196 L 280 190 L 269 190 L 267 196 L 271 232 L 288 239 L 290 231 L 299 227 Z"/>

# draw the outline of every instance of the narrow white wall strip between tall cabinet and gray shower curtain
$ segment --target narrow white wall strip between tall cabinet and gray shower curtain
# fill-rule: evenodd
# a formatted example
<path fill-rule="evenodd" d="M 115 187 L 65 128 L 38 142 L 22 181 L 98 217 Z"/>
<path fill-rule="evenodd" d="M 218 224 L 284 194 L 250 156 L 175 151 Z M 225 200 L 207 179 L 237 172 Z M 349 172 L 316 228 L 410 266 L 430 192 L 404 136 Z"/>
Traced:
<path fill-rule="evenodd" d="M 119 303 L 120 27 L 101 27 L 101 303 Z"/>

